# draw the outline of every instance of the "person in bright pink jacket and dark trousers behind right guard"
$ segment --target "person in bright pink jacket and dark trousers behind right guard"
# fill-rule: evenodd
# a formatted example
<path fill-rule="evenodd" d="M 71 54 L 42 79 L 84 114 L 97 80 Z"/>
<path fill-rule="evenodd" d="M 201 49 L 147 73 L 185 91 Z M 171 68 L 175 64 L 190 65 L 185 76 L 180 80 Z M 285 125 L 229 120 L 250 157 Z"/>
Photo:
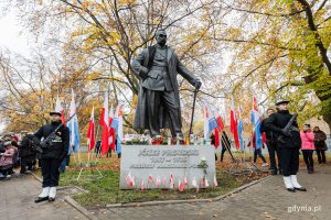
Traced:
<path fill-rule="evenodd" d="M 313 140 L 314 135 L 310 129 L 310 124 L 305 124 L 303 131 L 300 132 L 300 138 L 302 141 L 301 151 L 303 154 L 303 160 L 307 165 L 308 174 L 313 173 L 313 158 L 312 153 L 314 151 Z"/>

